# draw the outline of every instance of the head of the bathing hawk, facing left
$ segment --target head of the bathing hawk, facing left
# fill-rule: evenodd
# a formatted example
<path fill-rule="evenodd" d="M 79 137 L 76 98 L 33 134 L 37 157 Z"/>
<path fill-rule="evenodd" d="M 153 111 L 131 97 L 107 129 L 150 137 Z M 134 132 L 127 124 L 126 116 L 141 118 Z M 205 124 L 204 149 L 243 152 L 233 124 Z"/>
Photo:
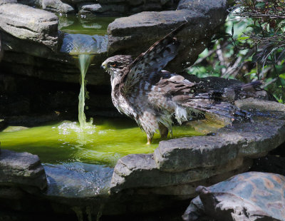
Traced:
<path fill-rule="evenodd" d="M 101 67 L 110 73 L 112 78 L 116 78 L 121 76 L 125 68 L 127 68 L 132 62 L 133 58 L 131 56 L 117 55 L 105 60 Z"/>

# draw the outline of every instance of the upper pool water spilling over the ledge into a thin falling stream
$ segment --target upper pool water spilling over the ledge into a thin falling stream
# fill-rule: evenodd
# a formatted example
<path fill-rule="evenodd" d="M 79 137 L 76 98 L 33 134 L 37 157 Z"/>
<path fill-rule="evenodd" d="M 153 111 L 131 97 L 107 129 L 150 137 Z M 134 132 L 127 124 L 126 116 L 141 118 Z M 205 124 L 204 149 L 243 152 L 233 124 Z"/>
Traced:
<path fill-rule="evenodd" d="M 114 19 L 110 18 L 98 19 L 94 16 L 89 16 L 88 19 L 81 19 L 78 16 L 60 16 L 59 18 L 60 28 L 61 30 L 65 31 L 63 34 L 61 52 L 74 56 L 76 62 L 78 62 L 78 67 L 81 72 L 81 91 L 78 96 L 78 121 L 81 125 L 81 128 L 86 128 L 86 126 L 90 126 L 93 123 L 93 120 L 90 120 L 90 123 L 86 122 L 86 115 L 84 113 L 85 99 L 87 94 L 85 80 L 86 73 L 92 59 L 94 58 L 94 55 L 105 53 L 107 51 L 108 36 L 100 36 L 98 34 L 103 34 L 102 27 L 106 31 L 108 24 L 113 20 Z M 78 25 L 78 23 L 81 25 Z M 102 23 L 102 26 L 100 26 L 100 23 Z M 74 26 L 73 24 L 77 25 Z M 86 31 L 83 31 L 86 29 L 89 29 L 87 34 Z M 94 31 L 94 29 L 97 31 Z M 100 31 L 98 32 L 98 30 Z"/>

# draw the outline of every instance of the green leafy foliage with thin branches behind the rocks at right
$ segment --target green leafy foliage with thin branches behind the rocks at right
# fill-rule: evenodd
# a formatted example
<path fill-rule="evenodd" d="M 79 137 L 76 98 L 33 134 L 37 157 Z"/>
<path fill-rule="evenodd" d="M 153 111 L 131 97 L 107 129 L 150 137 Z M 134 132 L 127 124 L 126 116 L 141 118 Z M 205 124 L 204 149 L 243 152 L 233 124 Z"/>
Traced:
<path fill-rule="evenodd" d="M 284 0 L 237 0 L 230 10 L 223 34 L 213 38 L 189 72 L 199 77 L 261 80 L 284 103 Z"/>

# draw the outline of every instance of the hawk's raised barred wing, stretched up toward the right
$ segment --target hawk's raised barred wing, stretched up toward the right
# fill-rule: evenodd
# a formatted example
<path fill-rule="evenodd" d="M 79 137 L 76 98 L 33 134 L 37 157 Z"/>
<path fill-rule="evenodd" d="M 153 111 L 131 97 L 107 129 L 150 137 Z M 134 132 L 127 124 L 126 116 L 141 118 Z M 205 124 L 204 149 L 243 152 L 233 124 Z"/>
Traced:
<path fill-rule="evenodd" d="M 155 42 L 145 53 L 141 53 L 125 70 L 120 83 L 120 91 L 130 93 L 133 86 L 140 80 L 148 78 L 164 68 L 169 61 L 177 55 L 180 42 L 174 36 L 181 31 L 187 23 L 180 25 L 170 34 Z"/>

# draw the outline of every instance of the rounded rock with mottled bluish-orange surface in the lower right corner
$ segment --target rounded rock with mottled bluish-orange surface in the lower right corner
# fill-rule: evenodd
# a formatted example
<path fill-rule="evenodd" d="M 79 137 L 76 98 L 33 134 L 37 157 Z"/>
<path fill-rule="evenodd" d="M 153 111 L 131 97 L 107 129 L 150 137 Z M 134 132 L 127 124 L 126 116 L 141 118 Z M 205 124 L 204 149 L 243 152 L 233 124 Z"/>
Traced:
<path fill-rule="evenodd" d="M 250 172 L 211 187 L 197 187 L 183 220 L 284 220 L 285 177 Z"/>

